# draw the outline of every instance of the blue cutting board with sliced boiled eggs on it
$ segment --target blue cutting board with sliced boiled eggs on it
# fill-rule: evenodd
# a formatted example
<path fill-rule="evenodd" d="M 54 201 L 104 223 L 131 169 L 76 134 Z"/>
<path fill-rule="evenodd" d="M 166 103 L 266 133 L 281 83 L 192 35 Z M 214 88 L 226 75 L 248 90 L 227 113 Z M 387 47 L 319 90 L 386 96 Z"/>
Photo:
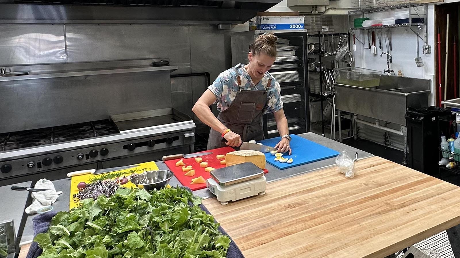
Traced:
<path fill-rule="evenodd" d="M 307 163 L 312 163 L 318 160 L 327 159 L 330 157 L 336 157 L 339 155 L 338 151 L 334 151 L 327 147 L 324 147 L 316 142 L 307 140 L 297 135 L 291 135 L 291 149 L 292 154 L 284 154 L 283 157 L 292 158 L 293 163 L 281 163 L 275 161 L 275 156 L 271 155 L 270 152 L 265 153 L 265 157 L 268 163 L 272 164 L 276 168 L 286 169 L 295 166 L 300 166 Z M 271 138 L 267 140 L 259 141 L 263 145 L 275 147 L 275 145 L 281 140 L 281 137 Z"/>

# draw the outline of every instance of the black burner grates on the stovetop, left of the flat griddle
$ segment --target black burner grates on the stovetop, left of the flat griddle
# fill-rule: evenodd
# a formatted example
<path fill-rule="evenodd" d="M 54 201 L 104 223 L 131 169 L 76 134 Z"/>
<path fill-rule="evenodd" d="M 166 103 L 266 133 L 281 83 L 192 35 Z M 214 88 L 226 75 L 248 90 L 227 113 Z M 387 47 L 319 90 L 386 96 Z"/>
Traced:
<path fill-rule="evenodd" d="M 83 140 L 117 133 L 118 131 L 114 123 L 110 120 L 12 132 L 0 134 L 0 151 L 9 151 L 71 140 Z"/>

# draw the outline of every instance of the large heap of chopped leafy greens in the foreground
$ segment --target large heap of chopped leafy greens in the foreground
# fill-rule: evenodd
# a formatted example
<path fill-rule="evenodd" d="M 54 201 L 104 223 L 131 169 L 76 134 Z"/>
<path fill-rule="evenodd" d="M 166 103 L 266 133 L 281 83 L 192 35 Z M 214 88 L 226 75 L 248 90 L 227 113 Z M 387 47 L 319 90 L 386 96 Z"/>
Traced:
<path fill-rule="evenodd" d="M 34 241 L 43 249 L 39 258 L 224 258 L 230 239 L 200 203 L 179 187 L 120 188 L 57 213 Z"/>

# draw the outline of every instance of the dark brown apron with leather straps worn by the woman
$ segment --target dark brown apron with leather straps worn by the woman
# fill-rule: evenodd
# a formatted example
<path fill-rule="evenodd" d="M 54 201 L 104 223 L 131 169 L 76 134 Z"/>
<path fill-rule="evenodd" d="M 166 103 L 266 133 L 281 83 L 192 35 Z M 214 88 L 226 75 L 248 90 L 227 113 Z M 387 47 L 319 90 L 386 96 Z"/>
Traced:
<path fill-rule="evenodd" d="M 230 107 L 220 112 L 217 119 L 232 132 L 241 135 L 242 141 L 264 140 L 262 112 L 267 104 L 267 91 L 270 88 L 271 79 L 265 85 L 265 90 L 243 90 L 240 74 L 235 67 L 232 68 L 236 72 L 239 90 Z M 221 140 L 222 134 L 211 129 L 207 149 L 227 146 Z"/>

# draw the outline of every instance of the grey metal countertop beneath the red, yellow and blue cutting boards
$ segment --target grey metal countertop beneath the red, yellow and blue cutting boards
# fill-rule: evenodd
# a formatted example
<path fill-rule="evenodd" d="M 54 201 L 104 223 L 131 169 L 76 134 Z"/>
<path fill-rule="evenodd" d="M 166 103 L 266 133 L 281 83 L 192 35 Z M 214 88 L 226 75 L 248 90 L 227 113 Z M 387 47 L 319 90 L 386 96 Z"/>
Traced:
<path fill-rule="evenodd" d="M 353 147 L 347 146 L 345 144 L 339 143 L 338 141 L 330 140 L 330 139 L 328 139 L 326 137 L 322 137 L 322 136 L 316 135 L 314 133 L 305 133 L 305 134 L 301 134 L 299 136 L 302 136 L 302 137 L 304 137 L 304 138 L 306 138 L 308 140 L 312 140 L 312 141 L 314 141 L 316 143 L 319 143 L 319 144 L 321 144 L 323 146 L 329 147 L 329 148 L 334 149 L 336 151 L 347 151 L 350 155 L 353 155 L 355 152 L 358 152 L 358 158 L 359 159 L 374 156 L 374 155 L 372 155 L 372 154 L 370 154 L 368 152 L 358 150 L 356 148 L 353 148 Z M 168 169 L 166 164 L 161 162 L 161 161 L 156 162 L 156 164 L 158 165 L 158 168 L 160 168 L 160 169 Z M 278 168 L 275 168 L 272 165 L 267 163 L 266 168 L 269 170 L 269 173 L 265 174 L 265 177 L 267 178 L 267 182 L 272 182 L 272 181 L 276 181 L 276 180 L 296 176 L 296 175 L 299 175 L 299 174 L 305 174 L 305 173 L 312 172 L 312 171 L 315 171 L 315 170 L 318 170 L 318 169 L 328 168 L 328 167 L 331 167 L 331 166 L 334 166 L 334 165 L 335 165 L 335 157 L 325 159 L 325 160 L 322 160 L 322 161 L 317 161 L 317 162 L 310 163 L 310 164 L 297 166 L 297 167 L 294 167 L 294 168 L 284 169 L 284 170 L 280 170 Z M 69 209 L 69 198 L 70 198 L 70 196 L 69 196 L 70 179 L 56 180 L 56 181 L 53 181 L 53 183 L 54 183 L 54 186 L 56 187 L 56 191 L 63 191 L 63 194 L 61 194 L 57 198 L 57 201 L 52 205 L 53 208 L 54 208 L 54 211 L 68 210 Z M 181 185 L 179 183 L 179 181 L 175 177 L 173 177 L 171 179 L 169 184 L 172 185 L 172 186 Z M 0 195 L 1 196 L 3 196 L 3 194 L 5 194 L 6 191 L 11 192 L 11 190 L 8 190 L 7 188 L 8 187 L 0 188 Z M 197 196 L 201 196 L 203 198 L 208 198 L 208 197 L 213 196 L 213 194 L 210 191 L 208 191 L 207 189 L 197 190 L 197 191 L 194 191 L 194 193 Z M 25 203 L 25 197 L 23 199 L 24 199 L 23 202 Z M 10 199 L 10 200 L 13 200 L 13 199 Z M 13 203 L 11 205 L 11 211 L 13 209 L 14 210 L 19 210 L 19 211 L 21 211 L 21 215 L 22 215 L 23 208 L 24 208 L 23 205 L 22 206 L 21 205 L 16 206 Z M 24 231 L 23 231 L 23 237 L 22 237 L 22 240 L 21 240 L 21 245 L 27 244 L 27 243 L 31 242 L 32 239 L 33 239 L 34 232 L 33 232 L 32 218 L 34 216 L 29 216 L 29 218 L 27 219 L 27 222 L 26 222 L 26 225 L 25 225 L 25 228 L 24 228 Z M 14 219 L 15 219 L 15 221 L 17 221 L 17 223 L 19 223 L 21 217 L 20 216 L 15 217 Z"/>

